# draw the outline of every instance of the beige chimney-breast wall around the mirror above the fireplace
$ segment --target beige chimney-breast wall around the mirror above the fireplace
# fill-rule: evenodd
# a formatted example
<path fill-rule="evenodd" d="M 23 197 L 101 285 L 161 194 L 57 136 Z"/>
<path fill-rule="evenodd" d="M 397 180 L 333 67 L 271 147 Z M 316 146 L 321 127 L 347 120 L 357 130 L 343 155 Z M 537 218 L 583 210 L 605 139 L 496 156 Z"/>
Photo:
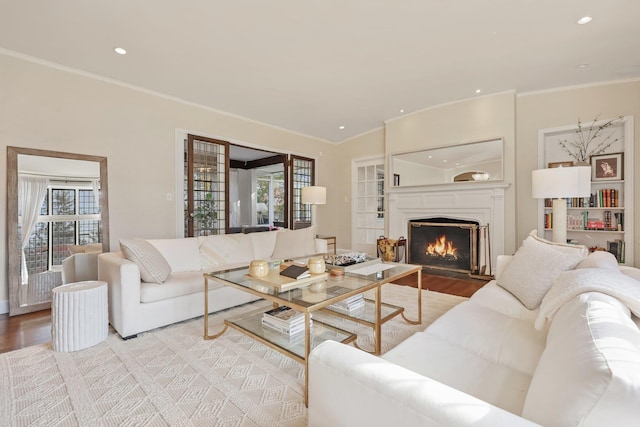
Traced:
<path fill-rule="evenodd" d="M 429 108 L 390 120 L 385 151 L 394 153 L 503 138 L 505 193 L 505 251 L 516 249 L 515 93 L 483 96 Z M 396 236 L 390 236 L 396 237 Z"/>

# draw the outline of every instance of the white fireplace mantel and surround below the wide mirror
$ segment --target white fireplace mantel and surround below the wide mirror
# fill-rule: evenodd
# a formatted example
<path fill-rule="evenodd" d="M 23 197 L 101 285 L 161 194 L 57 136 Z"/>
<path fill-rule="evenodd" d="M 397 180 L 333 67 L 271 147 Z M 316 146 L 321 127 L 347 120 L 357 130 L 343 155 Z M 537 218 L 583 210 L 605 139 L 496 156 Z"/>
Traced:
<path fill-rule="evenodd" d="M 385 191 L 389 237 L 407 236 L 412 219 L 449 217 L 489 224 L 491 265 L 495 271 L 497 256 L 504 253 L 504 194 L 509 185 L 492 181 L 391 187 Z"/>

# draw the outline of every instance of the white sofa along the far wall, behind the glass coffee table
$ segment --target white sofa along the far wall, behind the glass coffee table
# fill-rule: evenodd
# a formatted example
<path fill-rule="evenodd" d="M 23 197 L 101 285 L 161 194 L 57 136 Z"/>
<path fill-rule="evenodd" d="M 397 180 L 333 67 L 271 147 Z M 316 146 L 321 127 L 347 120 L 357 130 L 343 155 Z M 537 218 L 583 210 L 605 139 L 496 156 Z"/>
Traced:
<path fill-rule="evenodd" d="M 201 316 L 204 272 L 245 266 L 254 259 L 326 253 L 326 241 L 316 239 L 314 232 L 307 228 L 184 239 L 122 239 L 124 252 L 98 256 L 98 278 L 109 285 L 109 322 L 121 337 L 130 338 Z M 210 283 L 209 312 L 255 299 L 249 293 Z"/>

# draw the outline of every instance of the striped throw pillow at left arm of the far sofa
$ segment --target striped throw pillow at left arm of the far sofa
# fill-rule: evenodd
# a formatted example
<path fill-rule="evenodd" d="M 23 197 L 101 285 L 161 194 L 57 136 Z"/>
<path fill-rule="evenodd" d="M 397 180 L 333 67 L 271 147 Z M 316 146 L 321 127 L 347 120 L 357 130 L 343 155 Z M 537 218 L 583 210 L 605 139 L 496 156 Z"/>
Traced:
<path fill-rule="evenodd" d="M 171 273 L 171 266 L 160 251 L 143 239 L 120 239 L 120 250 L 129 261 L 140 269 L 145 282 L 162 283 Z"/>

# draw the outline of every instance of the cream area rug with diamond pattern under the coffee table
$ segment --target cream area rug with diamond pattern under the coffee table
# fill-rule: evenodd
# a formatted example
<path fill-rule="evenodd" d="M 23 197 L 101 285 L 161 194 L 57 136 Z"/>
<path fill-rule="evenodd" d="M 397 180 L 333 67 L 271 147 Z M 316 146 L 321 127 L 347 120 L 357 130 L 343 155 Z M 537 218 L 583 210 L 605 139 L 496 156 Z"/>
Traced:
<path fill-rule="evenodd" d="M 415 319 L 417 290 L 386 285 L 383 300 Z M 383 352 L 466 298 L 422 291 L 423 322 L 383 325 Z M 210 316 L 267 306 L 259 301 Z M 337 318 L 334 318 L 336 323 Z M 371 348 L 372 330 L 340 320 Z M 50 343 L 0 355 L 0 420 L 11 426 L 306 426 L 304 367 L 235 330 L 202 338 L 202 318 L 123 341 L 56 353 Z"/>

